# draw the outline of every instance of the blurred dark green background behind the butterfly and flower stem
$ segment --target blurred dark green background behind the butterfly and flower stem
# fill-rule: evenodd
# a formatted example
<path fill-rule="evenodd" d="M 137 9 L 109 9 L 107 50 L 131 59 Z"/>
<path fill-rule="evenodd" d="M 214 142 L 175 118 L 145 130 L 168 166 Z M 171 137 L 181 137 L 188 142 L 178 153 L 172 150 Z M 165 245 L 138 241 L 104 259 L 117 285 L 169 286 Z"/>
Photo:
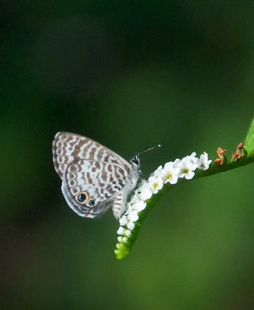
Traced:
<path fill-rule="evenodd" d="M 188 182 L 117 261 L 118 222 L 67 206 L 51 143 L 70 131 L 146 175 L 230 157 L 254 111 L 254 1 L 0 2 L 3 309 L 252 309 L 254 165 Z"/>

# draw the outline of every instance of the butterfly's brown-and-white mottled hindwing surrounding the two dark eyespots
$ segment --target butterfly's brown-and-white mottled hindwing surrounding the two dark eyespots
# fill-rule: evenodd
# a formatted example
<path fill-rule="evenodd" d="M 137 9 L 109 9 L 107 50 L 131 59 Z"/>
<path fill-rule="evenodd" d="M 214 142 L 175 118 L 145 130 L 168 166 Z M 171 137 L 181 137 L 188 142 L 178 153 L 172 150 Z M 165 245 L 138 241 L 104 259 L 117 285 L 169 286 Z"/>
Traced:
<path fill-rule="evenodd" d="M 88 210 L 95 209 L 99 204 L 103 208 L 111 202 L 126 185 L 127 179 L 127 171 L 118 164 L 78 159 L 68 166 L 63 186 L 69 202 L 73 204 L 72 209 L 86 217 Z M 78 201 L 80 193 L 86 195 L 86 202 Z M 90 205 L 90 200 L 93 205 Z"/>

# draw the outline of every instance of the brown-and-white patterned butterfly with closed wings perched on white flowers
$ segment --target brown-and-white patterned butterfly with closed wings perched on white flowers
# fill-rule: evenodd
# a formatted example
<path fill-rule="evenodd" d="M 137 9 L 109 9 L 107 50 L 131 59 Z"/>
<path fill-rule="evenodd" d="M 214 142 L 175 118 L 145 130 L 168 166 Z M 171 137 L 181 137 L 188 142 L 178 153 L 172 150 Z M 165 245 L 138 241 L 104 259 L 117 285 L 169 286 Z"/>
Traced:
<path fill-rule="evenodd" d="M 140 174 L 139 153 L 130 162 L 90 138 L 58 132 L 52 143 L 62 194 L 81 217 L 94 218 L 111 205 L 119 219 Z"/>

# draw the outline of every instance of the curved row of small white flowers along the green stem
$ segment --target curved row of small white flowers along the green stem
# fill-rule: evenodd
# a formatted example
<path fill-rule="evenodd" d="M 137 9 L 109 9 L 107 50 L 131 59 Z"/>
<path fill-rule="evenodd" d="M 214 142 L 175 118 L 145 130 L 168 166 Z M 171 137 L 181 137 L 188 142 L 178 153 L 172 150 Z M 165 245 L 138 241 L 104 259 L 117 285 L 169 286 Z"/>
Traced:
<path fill-rule="evenodd" d="M 176 159 L 158 167 L 148 181 L 143 180 L 134 192 L 131 201 L 127 203 L 127 211 L 119 219 L 120 228 L 117 233 L 118 237 L 117 248 L 121 248 L 121 243 L 126 243 L 128 237 L 131 236 L 132 230 L 135 227 L 134 222 L 138 220 L 138 214 L 146 208 L 146 201 L 149 200 L 152 194 L 157 194 L 163 185 L 166 183 L 176 184 L 179 178 L 190 180 L 194 177 L 196 169 L 207 170 L 211 160 L 208 159 L 208 154 L 204 152 L 199 158 L 196 153 L 183 157 L 181 160 Z"/>

